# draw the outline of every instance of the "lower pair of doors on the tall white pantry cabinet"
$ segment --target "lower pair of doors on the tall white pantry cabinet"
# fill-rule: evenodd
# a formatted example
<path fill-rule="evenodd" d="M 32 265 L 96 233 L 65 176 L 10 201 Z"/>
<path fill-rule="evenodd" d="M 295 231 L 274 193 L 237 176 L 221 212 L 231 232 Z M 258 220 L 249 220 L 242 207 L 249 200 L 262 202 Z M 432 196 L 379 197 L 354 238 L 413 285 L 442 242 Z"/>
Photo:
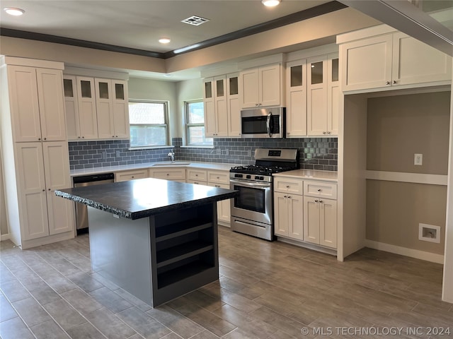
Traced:
<path fill-rule="evenodd" d="M 67 142 L 16 143 L 23 240 L 74 229 L 74 203 L 55 196 L 71 186 Z"/>

